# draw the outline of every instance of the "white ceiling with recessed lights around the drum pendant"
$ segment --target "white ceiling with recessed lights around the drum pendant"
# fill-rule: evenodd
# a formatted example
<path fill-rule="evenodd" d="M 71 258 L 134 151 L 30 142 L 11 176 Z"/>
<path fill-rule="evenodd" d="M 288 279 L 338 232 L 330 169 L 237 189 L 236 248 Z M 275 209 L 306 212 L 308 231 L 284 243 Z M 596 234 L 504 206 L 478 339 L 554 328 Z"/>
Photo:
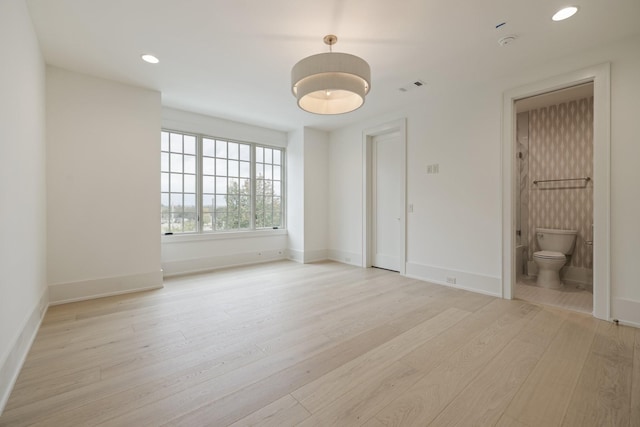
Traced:
<path fill-rule="evenodd" d="M 291 130 L 335 129 L 640 33 L 640 0 L 28 0 L 48 64 L 162 92 L 165 106 Z M 496 25 L 506 22 L 496 29 Z M 365 105 L 340 116 L 296 106 L 291 67 L 325 52 L 371 65 Z M 500 47 L 509 34 L 518 39 Z M 158 65 L 140 60 L 160 58 Z M 398 89 L 415 80 L 422 88 Z"/>

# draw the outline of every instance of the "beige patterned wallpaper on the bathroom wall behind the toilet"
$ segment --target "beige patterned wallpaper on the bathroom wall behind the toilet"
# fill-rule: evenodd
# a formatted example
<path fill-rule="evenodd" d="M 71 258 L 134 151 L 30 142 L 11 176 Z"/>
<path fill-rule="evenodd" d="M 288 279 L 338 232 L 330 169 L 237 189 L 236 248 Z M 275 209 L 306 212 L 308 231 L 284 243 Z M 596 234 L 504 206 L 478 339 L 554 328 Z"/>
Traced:
<path fill-rule="evenodd" d="M 570 265 L 593 268 L 593 181 L 533 184 L 534 180 L 593 179 L 593 97 L 529 112 L 528 258 L 539 250 L 535 229 L 578 230 Z M 523 183 L 525 184 L 525 183 Z"/>

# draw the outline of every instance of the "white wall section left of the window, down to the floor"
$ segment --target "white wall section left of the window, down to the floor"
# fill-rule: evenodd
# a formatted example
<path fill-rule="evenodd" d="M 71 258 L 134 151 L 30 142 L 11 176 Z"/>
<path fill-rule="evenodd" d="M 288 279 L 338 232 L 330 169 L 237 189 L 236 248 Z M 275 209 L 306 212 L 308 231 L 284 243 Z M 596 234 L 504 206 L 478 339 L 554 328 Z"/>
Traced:
<path fill-rule="evenodd" d="M 52 302 L 162 286 L 160 93 L 47 67 Z"/>

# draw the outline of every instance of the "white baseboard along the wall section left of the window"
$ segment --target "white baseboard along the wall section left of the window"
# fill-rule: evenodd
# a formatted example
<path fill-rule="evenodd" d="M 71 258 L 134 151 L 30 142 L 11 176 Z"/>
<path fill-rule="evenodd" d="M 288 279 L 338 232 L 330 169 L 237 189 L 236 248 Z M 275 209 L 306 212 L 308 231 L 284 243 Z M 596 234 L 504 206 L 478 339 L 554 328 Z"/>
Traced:
<path fill-rule="evenodd" d="M 51 305 L 162 288 L 162 270 L 49 285 Z"/>

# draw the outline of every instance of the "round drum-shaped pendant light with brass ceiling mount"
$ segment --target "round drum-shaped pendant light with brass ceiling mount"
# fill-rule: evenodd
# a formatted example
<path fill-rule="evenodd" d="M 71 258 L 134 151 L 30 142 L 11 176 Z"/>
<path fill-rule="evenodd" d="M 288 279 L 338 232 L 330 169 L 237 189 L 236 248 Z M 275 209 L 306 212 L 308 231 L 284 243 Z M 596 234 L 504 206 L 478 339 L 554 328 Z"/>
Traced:
<path fill-rule="evenodd" d="M 330 47 L 337 37 L 326 36 Z M 302 59 L 291 70 L 291 90 L 298 106 L 316 114 L 343 114 L 364 104 L 371 88 L 371 69 L 348 53 L 320 53 Z"/>

